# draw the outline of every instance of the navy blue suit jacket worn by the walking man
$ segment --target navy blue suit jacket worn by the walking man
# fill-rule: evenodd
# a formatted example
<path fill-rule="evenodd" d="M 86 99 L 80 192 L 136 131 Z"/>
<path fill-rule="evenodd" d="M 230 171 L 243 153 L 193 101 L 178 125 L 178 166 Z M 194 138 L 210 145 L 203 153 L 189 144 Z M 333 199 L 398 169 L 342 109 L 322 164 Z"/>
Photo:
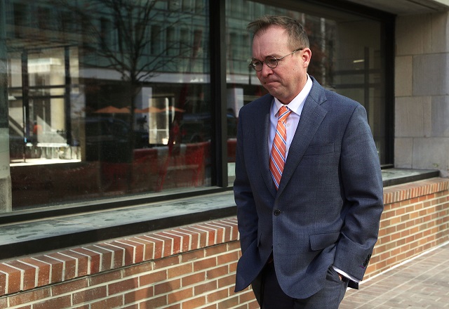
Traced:
<path fill-rule="evenodd" d="M 366 110 L 311 79 L 277 191 L 268 149 L 273 97 L 239 112 L 236 291 L 255 280 L 272 252 L 279 284 L 293 298 L 319 291 L 331 265 L 362 280 L 377 241 L 382 175 Z"/>

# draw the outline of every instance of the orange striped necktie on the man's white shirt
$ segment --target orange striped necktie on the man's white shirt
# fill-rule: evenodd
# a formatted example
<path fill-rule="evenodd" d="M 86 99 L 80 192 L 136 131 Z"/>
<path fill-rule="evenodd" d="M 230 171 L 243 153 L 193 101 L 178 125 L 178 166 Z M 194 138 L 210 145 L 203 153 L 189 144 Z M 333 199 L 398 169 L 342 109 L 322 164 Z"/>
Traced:
<path fill-rule="evenodd" d="M 276 135 L 273 140 L 272 155 L 269 160 L 269 170 L 272 172 L 272 178 L 276 189 L 279 188 L 283 165 L 286 163 L 286 145 L 287 145 L 287 126 L 286 119 L 291 110 L 283 105 L 279 109 L 278 125 L 276 126 Z"/>

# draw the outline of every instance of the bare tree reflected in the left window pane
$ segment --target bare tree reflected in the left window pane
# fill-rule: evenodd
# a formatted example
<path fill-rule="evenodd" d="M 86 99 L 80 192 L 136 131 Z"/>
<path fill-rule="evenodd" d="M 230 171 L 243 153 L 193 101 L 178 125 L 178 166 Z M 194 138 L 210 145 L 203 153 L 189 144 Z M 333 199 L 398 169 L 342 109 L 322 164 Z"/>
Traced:
<path fill-rule="evenodd" d="M 170 36 L 176 27 L 192 25 L 192 14 L 181 12 L 180 1 L 167 0 L 55 0 L 72 14 L 82 41 L 83 67 L 119 72 L 130 107 L 130 128 L 135 122 L 135 98 L 145 81 L 158 72 L 189 70 L 188 40 Z M 64 19 L 64 18 L 62 18 Z M 192 52 L 191 52 L 192 53 Z M 185 65 L 187 67 L 180 67 Z M 171 138 L 170 134 L 170 140 Z M 134 138 L 130 140 L 132 162 Z M 173 143 L 173 142 L 172 142 Z M 129 169 L 132 173 L 132 168 Z M 128 175 L 132 179 L 132 175 Z M 128 181 L 131 183 L 131 181 Z"/>

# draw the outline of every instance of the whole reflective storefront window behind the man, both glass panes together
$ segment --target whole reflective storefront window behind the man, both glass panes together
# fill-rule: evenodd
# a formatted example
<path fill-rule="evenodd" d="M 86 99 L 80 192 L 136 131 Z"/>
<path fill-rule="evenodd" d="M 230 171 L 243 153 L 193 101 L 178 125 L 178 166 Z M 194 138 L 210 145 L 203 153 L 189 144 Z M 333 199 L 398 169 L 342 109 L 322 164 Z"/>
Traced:
<path fill-rule="evenodd" d="M 246 25 L 268 13 L 302 22 L 309 74 L 366 107 L 391 163 L 392 38 L 382 18 L 325 2 L 0 0 L 13 210 L 232 185 L 239 109 L 266 93 L 248 68 Z"/>

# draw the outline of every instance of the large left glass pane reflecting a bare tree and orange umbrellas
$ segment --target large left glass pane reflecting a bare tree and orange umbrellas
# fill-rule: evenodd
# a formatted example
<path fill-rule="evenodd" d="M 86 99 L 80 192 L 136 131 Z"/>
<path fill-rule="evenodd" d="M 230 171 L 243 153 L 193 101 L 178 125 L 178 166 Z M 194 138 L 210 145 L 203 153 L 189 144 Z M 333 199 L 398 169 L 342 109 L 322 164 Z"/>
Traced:
<path fill-rule="evenodd" d="M 13 209 L 210 185 L 207 0 L 4 1 Z"/>

